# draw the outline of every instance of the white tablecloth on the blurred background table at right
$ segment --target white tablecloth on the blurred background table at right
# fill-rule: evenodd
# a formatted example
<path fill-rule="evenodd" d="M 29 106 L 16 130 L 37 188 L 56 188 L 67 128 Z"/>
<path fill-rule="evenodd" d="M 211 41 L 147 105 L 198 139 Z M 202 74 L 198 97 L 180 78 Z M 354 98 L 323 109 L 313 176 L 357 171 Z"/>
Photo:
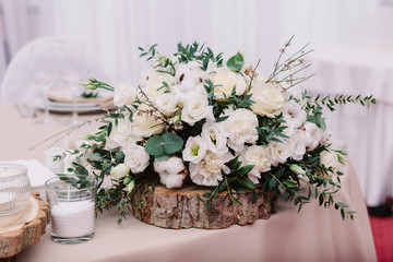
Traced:
<path fill-rule="evenodd" d="M 370 48 L 329 47 L 310 59 L 317 72 L 303 87 L 311 94 L 373 95 L 377 105 L 325 110 L 334 138 L 348 144 L 361 191 L 369 205 L 393 195 L 393 53 Z"/>

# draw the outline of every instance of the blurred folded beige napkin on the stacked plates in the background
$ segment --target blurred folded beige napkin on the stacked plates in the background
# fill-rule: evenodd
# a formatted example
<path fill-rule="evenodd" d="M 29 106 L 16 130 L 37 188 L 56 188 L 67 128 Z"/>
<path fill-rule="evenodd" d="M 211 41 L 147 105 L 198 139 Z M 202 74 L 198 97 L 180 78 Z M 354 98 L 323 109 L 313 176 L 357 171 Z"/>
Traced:
<path fill-rule="evenodd" d="M 59 87 L 51 88 L 48 91 L 48 98 L 52 102 L 60 103 L 73 103 L 72 88 L 69 87 Z M 100 107 L 112 107 L 114 106 L 114 96 L 112 95 L 98 95 L 94 98 L 76 97 L 78 104 L 93 104 Z"/>

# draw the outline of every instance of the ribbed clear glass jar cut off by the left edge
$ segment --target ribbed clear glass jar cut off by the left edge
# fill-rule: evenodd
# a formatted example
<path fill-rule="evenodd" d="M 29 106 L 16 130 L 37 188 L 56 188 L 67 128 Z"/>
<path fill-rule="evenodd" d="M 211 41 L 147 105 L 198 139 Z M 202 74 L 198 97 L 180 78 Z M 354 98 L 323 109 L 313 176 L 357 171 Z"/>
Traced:
<path fill-rule="evenodd" d="M 31 195 L 27 167 L 0 163 L 0 216 L 12 215 L 23 210 Z"/>

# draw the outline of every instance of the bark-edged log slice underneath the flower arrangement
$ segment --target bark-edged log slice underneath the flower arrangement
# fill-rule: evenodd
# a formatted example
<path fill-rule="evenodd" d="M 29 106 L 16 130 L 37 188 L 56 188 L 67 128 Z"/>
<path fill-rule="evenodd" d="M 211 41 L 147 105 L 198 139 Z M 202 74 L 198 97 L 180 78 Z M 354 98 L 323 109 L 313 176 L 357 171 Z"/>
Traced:
<path fill-rule="evenodd" d="M 260 218 L 267 219 L 272 211 L 272 193 L 259 194 L 252 203 L 253 193 L 249 191 L 236 195 L 241 205 L 229 205 L 230 200 L 225 198 L 226 192 L 221 192 L 206 211 L 205 204 L 199 198 L 211 192 L 211 189 L 198 186 L 167 189 L 156 186 L 153 194 L 144 194 L 144 191 L 136 190 L 132 199 L 134 216 L 144 223 L 165 228 L 219 229 L 234 224 L 252 224 Z M 145 205 L 139 209 L 145 198 Z"/>

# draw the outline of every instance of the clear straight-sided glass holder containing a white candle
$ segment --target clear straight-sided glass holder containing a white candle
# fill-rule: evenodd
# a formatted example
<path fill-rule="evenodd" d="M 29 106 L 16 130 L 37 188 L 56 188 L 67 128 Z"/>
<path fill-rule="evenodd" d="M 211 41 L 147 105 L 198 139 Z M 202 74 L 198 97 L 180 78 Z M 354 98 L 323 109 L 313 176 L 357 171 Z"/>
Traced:
<path fill-rule="evenodd" d="M 51 238 L 80 243 L 95 234 L 97 182 L 93 177 L 60 176 L 46 181 L 51 216 Z"/>

